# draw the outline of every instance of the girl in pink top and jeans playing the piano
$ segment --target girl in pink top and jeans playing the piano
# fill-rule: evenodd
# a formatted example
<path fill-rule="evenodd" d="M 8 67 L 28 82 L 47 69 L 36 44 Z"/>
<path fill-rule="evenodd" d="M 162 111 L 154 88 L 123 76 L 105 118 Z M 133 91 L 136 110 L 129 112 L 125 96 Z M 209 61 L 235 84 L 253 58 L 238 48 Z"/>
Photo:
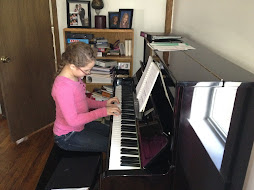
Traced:
<path fill-rule="evenodd" d="M 71 43 L 62 54 L 62 62 L 52 88 L 56 105 L 53 132 L 56 144 L 65 150 L 106 152 L 109 127 L 94 121 L 107 115 L 119 115 L 114 97 L 95 101 L 86 97 L 86 85 L 81 78 L 90 74 L 96 52 L 82 42 Z M 89 111 L 89 109 L 95 109 Z"/>

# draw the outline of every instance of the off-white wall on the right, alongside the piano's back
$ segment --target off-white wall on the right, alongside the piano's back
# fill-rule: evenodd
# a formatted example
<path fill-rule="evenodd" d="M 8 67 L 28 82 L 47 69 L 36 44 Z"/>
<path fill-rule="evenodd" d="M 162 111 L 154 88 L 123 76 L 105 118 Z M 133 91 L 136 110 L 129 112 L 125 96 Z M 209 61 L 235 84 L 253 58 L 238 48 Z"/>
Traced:
<path fill-rule="evenodd" d="M 175 0 L 172 31 L 254 73 L 253 8 L 253 0 Z M 253 154 L 244 190 L 254 189 Z"/>

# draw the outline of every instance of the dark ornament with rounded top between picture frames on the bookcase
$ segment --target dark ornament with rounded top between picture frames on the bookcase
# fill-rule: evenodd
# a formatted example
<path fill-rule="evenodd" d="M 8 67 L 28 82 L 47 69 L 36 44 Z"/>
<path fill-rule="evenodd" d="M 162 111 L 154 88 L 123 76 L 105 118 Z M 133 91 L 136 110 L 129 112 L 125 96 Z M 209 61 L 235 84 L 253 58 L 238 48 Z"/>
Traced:
<path fill-rule="evenodd" d="M 101 9 L 104 7 L 104 3 L 102 0 L 93 0 L 92 1 L 92 8 L 95 9 L 95 28 L 106 28 L 106 16 L 99 15 Z"/>

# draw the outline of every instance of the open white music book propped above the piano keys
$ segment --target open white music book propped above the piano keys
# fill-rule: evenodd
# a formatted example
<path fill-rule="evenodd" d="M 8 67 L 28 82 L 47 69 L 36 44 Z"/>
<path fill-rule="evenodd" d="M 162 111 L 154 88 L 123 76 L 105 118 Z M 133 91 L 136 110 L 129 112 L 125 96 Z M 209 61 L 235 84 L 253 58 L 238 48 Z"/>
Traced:
<path fill-rule="evenodd" d="M 159 72 L 160 69 L 158 68 L 156 63 L 153 62 L 152 57 L 149 56 L 146 68 L 136 87 L 137 99 L 139 103 L 139 112 L 143 112 L 145 110 L 146 103 L 159 75 Z"/>

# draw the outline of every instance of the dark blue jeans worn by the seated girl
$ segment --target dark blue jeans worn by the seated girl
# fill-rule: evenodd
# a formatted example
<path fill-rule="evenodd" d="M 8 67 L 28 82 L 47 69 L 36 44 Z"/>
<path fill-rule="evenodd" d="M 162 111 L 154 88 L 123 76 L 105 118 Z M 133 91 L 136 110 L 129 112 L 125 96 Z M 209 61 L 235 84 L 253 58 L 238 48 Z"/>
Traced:
<path fill-rule="evenodd" d="M 56 136 L 55 143 L 64 150 L 83 152 L 107 152 L 109 126 L 97 121 L 87 123 L 80 131 Z"/>

